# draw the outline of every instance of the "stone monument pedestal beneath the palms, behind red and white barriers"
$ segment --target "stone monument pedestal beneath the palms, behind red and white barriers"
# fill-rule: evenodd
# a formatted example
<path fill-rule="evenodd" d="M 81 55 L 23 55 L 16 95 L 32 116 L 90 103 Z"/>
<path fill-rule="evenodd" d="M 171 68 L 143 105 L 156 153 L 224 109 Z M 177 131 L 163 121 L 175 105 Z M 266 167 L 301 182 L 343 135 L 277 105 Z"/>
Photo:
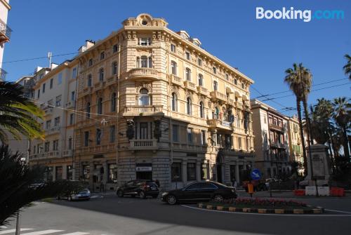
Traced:
<path fill-rule="evenodd" d="M 307 176 L 305 180 L 308 180 L 308 185 L 314 185 L 314 179 L 317 180 L 317 186 L 329 184 L 329 177 L 331 175 L 331 167 L 329 161 L 328 147 L 325 145 L 311 145 L 311 156 L 312 156 L 312 169 L 313 179 L 311 175 L 311 162 L 310 153 L 307 147 Z"/>

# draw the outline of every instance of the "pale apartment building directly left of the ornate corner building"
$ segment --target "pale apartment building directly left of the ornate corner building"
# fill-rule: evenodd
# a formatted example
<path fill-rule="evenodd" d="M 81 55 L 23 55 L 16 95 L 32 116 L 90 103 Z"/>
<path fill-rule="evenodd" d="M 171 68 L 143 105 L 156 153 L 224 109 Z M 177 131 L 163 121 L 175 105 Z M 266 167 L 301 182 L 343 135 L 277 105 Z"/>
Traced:
<path fill-rule="evenodd" d="M 45 139 L 31 142 L 29 163 L 46 165 L 46 180 L 74 180 L 74 109 L 77 88 L 77 60 L 37 69 L 34 99 L 44 111 L 39 120 Z"/>

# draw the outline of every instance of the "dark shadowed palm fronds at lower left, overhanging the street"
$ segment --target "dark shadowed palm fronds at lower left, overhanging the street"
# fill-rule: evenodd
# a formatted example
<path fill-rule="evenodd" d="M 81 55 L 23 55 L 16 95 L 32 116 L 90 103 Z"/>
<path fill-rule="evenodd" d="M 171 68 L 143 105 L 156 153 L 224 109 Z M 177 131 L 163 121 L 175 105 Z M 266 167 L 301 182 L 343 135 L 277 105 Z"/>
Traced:
<path fill-rule="evenodd" d="M 44 166 L 27 166 L 21 161 L 22 155 L 11 154 L 7 146 L 0 146 L 0 226 L 20 208 L 32 201 L 57 196 L 71 189 L 81 189 L 77 182 L 59 180 L 33 187 L 44 178 Z"/>

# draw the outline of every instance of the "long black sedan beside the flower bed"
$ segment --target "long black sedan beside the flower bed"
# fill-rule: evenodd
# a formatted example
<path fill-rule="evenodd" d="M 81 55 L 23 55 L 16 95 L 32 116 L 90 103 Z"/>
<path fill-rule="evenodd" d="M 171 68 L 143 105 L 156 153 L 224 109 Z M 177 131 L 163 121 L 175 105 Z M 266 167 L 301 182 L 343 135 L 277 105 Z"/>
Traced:
<path fill-rule="evenodd" d="M 170 205 L 183 202 L 223 201 L 223 199 L 236 199 L 234 187 L 227 187 L 218 182 L 194 182 L 183 189 L 174 189 L 164 192 L 161 201 Z"/>

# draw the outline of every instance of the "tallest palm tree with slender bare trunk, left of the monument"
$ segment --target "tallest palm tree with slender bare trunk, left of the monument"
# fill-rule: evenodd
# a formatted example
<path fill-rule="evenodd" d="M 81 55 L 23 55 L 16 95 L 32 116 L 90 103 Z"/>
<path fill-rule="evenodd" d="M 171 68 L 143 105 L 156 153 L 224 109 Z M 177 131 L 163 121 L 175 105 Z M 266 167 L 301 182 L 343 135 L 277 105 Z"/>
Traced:
<path fill-rule="evenodd" d="M 305 101 L 307 109 L 307 94 L 310 90 L 310 83 L 312 81 L 312 76 L 308 69 L 303 67 L 302 63 L 293 64 L 293 68 L 286 69 L 284 81 L 289 85 L 289 88 L 296 96 L 296 107 L 298 111 L 298 123 L 300 126 L 300 137 L 301 144 L 303 147 L 303 167 L 305 168 L 305 175 L 307 175 L 307 156 L 306 156 L 306 147 L 305 147 L 305 137 L 303 136 L 303 121 L 301 115 L 301 106 L 300 102 Z M 310 81 L 310 83 L 308 83 Z M 308 92 L 307 92 L 308 91 Z M 305 110 L 305 116 L 308 112 Z M 308 123 L 307 123 L 308 125 Z M 308 127 L 308 126 L 307 126 Z M 308 132 L 307 132 L 308 133 Z M 308 135 L 307 135 L 308 137 Z M 310 144 L 310 141 L 308 141 Z"/>

